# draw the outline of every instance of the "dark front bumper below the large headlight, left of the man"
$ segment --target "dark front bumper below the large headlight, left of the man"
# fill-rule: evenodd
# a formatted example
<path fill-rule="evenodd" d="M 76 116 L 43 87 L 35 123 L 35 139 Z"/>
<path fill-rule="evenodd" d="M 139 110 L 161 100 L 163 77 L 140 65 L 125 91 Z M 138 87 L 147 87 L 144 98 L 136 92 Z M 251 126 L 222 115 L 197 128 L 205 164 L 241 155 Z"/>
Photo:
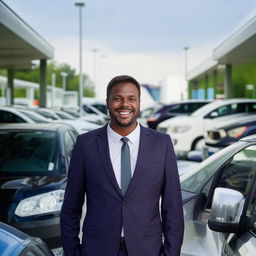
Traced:
<path fill-rule="evenodd" d="M 29 234 L 30 236 L 40 237 L 51 249 L 61 247 L 59 217 L 46 220 L 15 223 L 13 226 Z"/>

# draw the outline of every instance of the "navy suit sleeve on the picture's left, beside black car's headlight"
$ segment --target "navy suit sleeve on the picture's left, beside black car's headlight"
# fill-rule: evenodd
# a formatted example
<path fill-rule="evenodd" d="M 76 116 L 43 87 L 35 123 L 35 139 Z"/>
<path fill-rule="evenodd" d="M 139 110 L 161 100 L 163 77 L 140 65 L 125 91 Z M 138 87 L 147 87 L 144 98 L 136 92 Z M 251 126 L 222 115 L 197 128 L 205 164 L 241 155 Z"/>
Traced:
<path fill-rule="evenodd" d="M 83 167 L 81 137 L 78 136 L 74 146 L 64 202 L 61 209 L 61 237 L 65 256 L 80 255 L 80 219 L 85 196 L 85 171 Z"/>

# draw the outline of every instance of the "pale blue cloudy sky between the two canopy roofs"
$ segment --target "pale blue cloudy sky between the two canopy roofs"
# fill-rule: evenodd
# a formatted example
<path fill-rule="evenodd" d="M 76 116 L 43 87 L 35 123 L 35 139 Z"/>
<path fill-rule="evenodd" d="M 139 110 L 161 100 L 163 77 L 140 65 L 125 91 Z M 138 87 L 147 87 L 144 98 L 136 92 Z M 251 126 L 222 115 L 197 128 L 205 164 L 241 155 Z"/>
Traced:
<path fill-rule="evenodd" d="M 4 0 L 46 39 L 58 63 L 79 70 L 78 8 L 74 0 Z M 129 74 L 157 85 L 184 76 L 250 13 L 255 0 L 86 0 L 83 18 L 83 72 L 100 86 Z M 94 53 L 93 49 L 97 49 Z M 98 88 L 103 88 L 98 87 Z"/>

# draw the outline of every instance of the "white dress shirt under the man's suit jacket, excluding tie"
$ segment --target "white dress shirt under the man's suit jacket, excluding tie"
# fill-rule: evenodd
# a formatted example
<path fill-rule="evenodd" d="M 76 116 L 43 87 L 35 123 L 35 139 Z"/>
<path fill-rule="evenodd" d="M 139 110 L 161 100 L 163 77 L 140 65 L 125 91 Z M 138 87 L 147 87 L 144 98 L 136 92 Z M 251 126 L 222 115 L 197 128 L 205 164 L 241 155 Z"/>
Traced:
<path fill-rule="evenodd" d="M 109 146 L 109 153 L 111 163 L 115 172 L 116 181 L 121 188 L 121 148 L 123 142 L 121 141 L 120 134 L 116 133 L 108 124 L 107 126 L 107 134 L 108 134 L 108 146 Z M 139 144 L 140 144 L 140 125 L 137 123 L 136 128 L 127 136 L 126 138 L 129 139 L 128 145 L 130 148 L 130 156 L 131 156 L 131 177 L 133 176 L 138 152 L 139 152 Z"/>

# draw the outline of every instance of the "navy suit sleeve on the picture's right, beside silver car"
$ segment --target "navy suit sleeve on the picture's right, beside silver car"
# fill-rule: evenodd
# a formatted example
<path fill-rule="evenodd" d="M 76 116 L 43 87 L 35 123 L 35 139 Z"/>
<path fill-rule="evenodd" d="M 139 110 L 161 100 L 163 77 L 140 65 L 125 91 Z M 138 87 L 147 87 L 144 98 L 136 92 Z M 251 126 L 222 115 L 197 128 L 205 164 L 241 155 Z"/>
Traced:
<path fill-rule="evenodd" d="M 180 256 L 184 233 L 180 180 L 170 137 L 168 138 L 165 174 L 162 185 L 161 215 L 164 234 L 164 256 Z"/>

